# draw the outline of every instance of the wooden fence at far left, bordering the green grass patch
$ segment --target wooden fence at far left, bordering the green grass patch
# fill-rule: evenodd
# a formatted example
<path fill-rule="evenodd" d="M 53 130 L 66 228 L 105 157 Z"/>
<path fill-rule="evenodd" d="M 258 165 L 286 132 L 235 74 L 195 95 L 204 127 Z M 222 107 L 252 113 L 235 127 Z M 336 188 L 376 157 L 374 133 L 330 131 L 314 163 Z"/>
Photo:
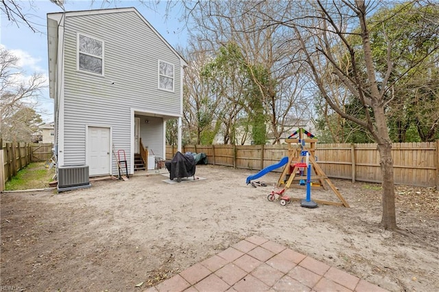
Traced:
<path fill-rule="evenodd" d="M 0 143 L 0 190 L 4 183 L 30 162 L 47 161 L 52 157 L 52 143 Z"/>

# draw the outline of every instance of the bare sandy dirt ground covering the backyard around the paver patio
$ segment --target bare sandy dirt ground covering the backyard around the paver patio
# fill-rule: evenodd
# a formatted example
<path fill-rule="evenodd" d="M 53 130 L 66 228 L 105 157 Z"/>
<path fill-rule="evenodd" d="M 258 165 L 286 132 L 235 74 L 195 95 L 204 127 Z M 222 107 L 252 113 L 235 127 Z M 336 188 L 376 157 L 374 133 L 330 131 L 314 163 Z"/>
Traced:
<path fill-rule="evenodd" d="M 390 291 L 439 291 L 435 189 L 397 186 L 401 232 L 389 232 L 379 226 L 377 184 L 333 180 L 351 208 L 309 209 L 268 202 L 278 173 L 257 188 L 245 183 L 253 173 L 202 165 L 196 176 L 206 180 L 134 176 L 59 194 L 3 193 L 2 290 L 143 291 L 259 235 Z M 305 190 L 287 195 L 305 197 Z M 311 196 L 337 202 L 332 191 Z"/>

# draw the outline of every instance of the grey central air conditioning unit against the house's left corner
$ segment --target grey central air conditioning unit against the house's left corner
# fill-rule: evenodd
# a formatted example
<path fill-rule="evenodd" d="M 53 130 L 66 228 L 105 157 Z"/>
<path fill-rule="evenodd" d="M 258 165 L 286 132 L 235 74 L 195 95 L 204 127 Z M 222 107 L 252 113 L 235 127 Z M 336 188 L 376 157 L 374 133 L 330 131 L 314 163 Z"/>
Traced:
<path fill-rule="evenodd" d="M 91 186 L 88 165 L 63 165 L 58 167 L 58 193 Z"/>

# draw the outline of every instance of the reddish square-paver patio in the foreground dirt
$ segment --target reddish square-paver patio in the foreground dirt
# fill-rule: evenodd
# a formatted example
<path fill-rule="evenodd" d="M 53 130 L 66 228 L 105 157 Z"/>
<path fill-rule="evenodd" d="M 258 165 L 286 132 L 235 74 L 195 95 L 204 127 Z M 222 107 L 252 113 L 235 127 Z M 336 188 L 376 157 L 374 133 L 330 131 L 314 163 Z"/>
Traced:
<path fill-rule="evenodd" d="M 261 236 L 250 236 L 146 291 L 386 290 Z"/>

